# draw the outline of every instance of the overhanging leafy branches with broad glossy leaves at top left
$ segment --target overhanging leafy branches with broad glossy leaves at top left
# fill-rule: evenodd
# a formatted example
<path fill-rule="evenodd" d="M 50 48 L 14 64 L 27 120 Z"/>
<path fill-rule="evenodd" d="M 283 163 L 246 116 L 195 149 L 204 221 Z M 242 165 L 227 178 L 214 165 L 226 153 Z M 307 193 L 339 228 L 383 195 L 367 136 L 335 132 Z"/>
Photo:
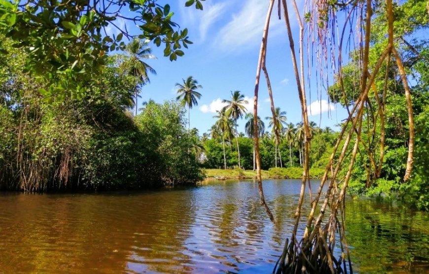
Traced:
<path fill-rule="evenodd" d="M 122 8 L 129 9 L 127 16 L 121 14 Z M 199 0 L 196 8 L 202 9 Z M 25 5 L 1 0 L 0 34 L 28 55 L 25 70 L 46 85 L 40 93 L 47 100 L 64 101 L 92 91 L 87 83 L 104 69 L 107 53 L 124 50 L 124 36 L 134 37 L 126 28 L 118 29 L 117 36 L 107 34 L 106 28 L 117 28 L 118 20 L 137 25 L 140 39 L 157 46 L 163 43 L 164 55 L 177 60 L 184 54 L 181 47 L 192 42 L 187 29 L 172 21 L 173 15 L 170 5 L 160 5 L 158 0 L 36 0 Z"/>

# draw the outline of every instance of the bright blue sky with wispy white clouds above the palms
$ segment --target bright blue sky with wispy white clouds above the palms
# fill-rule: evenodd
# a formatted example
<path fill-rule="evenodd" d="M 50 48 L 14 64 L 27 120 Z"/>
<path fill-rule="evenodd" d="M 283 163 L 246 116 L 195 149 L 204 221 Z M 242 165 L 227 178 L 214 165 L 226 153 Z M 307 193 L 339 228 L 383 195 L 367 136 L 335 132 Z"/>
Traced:
<path fill-rule="evenodd" d="M 175 83 L 193 76 L 203 86 L 199 90 L 203 96 L 198 106 L 191 109 L 191 127 L 198 128 L 202 134 L 214 123 L 215 110 L 222 107 L 222 99 L 230 97 L 230 91 L 240 90 L 249 100 L 248 109 L 252 111 L 256 65 L 268 0 L 206 0 L 203 11 L 185 7 L 184 2 L 169 1 L 175 12 L 173 21 L 181 28 L 188 28 L 188 35 L 194 43 L 175 62 L 163 56 L 162 45 L 157 48 L 151 44 L 157 59 L 147 63 L 157 75 L 151 76 L 150 84 L 143 86 L 140 102 L 149 98 L 156 102 L 172 100 L 176 97 Z M 290 19 L 297 42 L 298 25 L 294 13 L 290 14 Z M 285 21 L 278 19 L 277 6 L 270 24 L 266 64 L 275 106 L 287 112 L 288 122 L 296 123 L 301 121 L 301 108 Z M 263 74 L 259 86 L 258 113 L 265 118 L 271 112 Z M 321 127 L 335 128 L 335 124 L 346 118 L 346 111 L 339 105 L 327 104 L 325 92 L 318 92 L 315 88 L 314 77 L 311 78 L 311 87 L 312 90 L 307 87 L 307 102 L 312 104 L 310 120 Z M 244 124 L 244 120 L 239 121 L 239 131 L 244 131 Z"/>

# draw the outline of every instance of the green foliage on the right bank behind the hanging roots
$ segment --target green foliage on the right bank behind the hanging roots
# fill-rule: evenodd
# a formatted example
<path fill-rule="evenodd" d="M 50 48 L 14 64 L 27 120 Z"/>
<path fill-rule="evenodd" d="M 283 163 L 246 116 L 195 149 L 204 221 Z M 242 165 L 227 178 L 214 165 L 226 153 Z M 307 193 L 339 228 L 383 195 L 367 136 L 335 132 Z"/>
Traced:
<path fill-rule="evenodd" d="M 372 71 L 381 52 L 387 44 L 387 20 L 384 3 L 375 6 L 375 18 L 371 24 L 371 47 L 369 52 L 369 71 Z M 379 144 L 381 134 L 381 120 L 378 117 L 378 101 L 383 100 L 386 84 L 386 115 L 385 115 L 385 154 L 380 178 L 376 178 L 374 168 L 368 157 L 366 148 L 360 144 L 357 153 L 355 167 L 350 182 L 351 192 L 358 194 L 399 194 L 404 199 L 419 209 L 428 210 L 429 185 L 428 185 L 428 91 L 429 91 L 429 67 L 428 67 L 428 40 L 425 35 L 420 35 L 427 31 L 429 27 L 429 17 L 427 16 L 427 2 L 424 0 L 408 0 L 400 5 L 394 4 L 394 32 L 398 37 L 395 48 L 403 61 L 406 73 L 409 78 L 413 114 L 415 120 L 415 147 L 414 147 L 414 167 L 410 180 L 404 182 L 407 154 L 409 124 L 408 113 L 404 96 L 404 88 L 399 78 L 396 63 L 391 59 L 389 70 L 383 65 L 375 76 L 374 86 L 368 95 L 365 105 L 362 123 L 361 138 L 367 148 L 374 151 L 374 161 L 378 164 L 380 159 Z M 339 79 L 328 88 L 328 93 L 332 101 L 342 105 L 354 103 L 359 93 L 359 77 L 356 73 L 359 70 L 359 55 L 352 52 L 350 61 L 343 67 L 345 97 L 341 92 Z M 376 98 L 374 88 L 378 90 L 379 98 Z M 372 128 L 372 121 L 377 125 Z M 372 134 L 374 130 L 374 134 Z M 374 137 L 373 137 L 374 136 Z M 314 145 L 314 140 L 313 140 Z M 346 157 L 345 162 L 349 161 Z M 345 175 L 345 171 L 341 171 Z"/>

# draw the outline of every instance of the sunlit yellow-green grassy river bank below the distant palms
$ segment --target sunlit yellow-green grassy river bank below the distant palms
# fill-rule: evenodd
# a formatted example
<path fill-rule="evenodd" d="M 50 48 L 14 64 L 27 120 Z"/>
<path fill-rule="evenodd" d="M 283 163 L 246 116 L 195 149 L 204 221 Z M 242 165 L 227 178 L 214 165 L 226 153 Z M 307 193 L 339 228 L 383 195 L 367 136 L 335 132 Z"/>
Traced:
<path fill-rule="evenodd" d="M 256 171 L 242 169 L 212 169 L 204 170 L 205 180 L 228 180 L 228 179 L 253 179 L 256 178 Z M 320 179 L 324 170 L 321 168 L 311 168 L 310 178 Z M 261 170 L 262 179 L 301 179 L 301 167 L 270 168 Z"/>

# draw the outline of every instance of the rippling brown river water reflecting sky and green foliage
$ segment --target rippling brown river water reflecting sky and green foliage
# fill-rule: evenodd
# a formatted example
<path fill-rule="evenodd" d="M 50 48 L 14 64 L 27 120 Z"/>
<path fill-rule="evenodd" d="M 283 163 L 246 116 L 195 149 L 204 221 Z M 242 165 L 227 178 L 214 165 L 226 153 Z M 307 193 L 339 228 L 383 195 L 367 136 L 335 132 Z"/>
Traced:
<path fill-rule="evenodd" d="M 253 181 L 2 193 L 0 273 L 271 273 L 290 236 L 299 188 L 300 180 L 264 181 L 275 224 Z M 349 197 L 346 210 L 355 273 L 429 273 L 428 213 L 363 197 Z"/>

